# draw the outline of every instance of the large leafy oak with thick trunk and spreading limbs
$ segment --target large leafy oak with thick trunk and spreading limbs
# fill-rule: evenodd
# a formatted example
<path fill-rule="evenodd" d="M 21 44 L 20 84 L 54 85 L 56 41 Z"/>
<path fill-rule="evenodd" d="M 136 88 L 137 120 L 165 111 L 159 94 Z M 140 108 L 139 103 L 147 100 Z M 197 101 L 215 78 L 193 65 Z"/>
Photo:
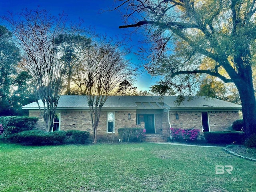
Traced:
<path fill-rule="evenodd" d="M 168 82 L 187 75 L 208 74 L 239 91 L 246 136 L 256 133 L 256 101 L 252 81 L 256 38 L 255 0 L 124 0 L 127 23 L 120 28 L 148 29 L 154 46 L 153 75 Z M 134 20 L 133 20 L 134 19 Z M 211 68 L 201 68 L 206 59 Z M 220 73 L 225 70 L 227 76 Z M 188 86 L 189 86 L 188 82 Z"/>

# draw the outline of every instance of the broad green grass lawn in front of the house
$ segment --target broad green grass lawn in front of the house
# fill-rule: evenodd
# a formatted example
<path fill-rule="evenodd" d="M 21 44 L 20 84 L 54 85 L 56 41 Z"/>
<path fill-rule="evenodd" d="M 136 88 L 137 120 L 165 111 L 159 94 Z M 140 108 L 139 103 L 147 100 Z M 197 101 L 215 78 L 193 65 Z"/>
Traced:
<path fill-rule="evenodd" d="M 1 192 L 256 191 L 256 162 L 222 148 L 0 144 Z M 216 165 L 233 166 L 216 174 Z"/>

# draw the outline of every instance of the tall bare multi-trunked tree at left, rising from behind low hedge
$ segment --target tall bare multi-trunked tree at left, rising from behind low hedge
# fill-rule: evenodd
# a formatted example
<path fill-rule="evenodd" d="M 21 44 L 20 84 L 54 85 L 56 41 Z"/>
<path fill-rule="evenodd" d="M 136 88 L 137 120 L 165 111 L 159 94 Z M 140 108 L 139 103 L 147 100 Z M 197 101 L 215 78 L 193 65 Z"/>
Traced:
<path fill-rule="evenodd" d="M 24 57 L 23 67 L 30 73 L 34 92 L 42 100 L 40 112 L 44 118 L 45 130 L 52 130 L 53 119 L 58 100 L 65 86 L 67 63 L 61 61 L 64 54 L 54 40 L 60 34 L 68 32 L 66 15 L 52 16 L 46 10 L 24 9 L 14 15 L 4 16 L 12 28 L 13 34 Z"/>

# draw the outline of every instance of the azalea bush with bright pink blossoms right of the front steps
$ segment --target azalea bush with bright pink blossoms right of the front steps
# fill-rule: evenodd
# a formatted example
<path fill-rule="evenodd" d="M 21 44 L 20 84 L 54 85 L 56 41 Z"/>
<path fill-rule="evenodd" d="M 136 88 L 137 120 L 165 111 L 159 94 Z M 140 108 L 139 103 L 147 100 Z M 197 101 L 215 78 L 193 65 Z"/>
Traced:
<path fill-rule="evenodd" d="M 170 128 L 172 140 L 194 141 L 200 134 L 199 129 Z"/>

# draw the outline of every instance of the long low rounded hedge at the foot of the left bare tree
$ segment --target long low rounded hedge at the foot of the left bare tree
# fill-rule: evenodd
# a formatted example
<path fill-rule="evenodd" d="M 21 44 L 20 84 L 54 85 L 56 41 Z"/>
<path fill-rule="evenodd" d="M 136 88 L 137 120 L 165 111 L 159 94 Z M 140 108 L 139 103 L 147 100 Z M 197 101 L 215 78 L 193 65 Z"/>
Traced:
<path fill-rule="evenodd" d="M 63 143 L 65 138 L 66 132 L 64 131 L 45 132 L 39 130 L 23 131 L 8 136 L 8 140 L 11 142 L 29 145 Z"/>

